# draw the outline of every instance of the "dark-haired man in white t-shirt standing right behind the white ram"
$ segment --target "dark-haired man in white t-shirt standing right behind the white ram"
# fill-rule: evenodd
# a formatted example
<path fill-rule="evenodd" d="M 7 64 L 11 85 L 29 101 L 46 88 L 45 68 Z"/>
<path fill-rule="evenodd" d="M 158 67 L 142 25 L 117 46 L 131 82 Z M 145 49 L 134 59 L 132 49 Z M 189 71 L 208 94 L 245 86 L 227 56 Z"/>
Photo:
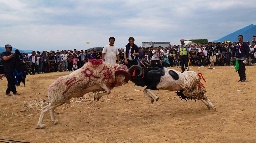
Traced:
<path fill-rule="evenodd" d="M 115 38 L 110 37 L 108 41 L 109 44 L 103 48 L 101 57 L 103 61 L 114 65 L 117 63 L 116 60 L 119 61 L 119 52 L 117 46 L 114 46 Z"/>

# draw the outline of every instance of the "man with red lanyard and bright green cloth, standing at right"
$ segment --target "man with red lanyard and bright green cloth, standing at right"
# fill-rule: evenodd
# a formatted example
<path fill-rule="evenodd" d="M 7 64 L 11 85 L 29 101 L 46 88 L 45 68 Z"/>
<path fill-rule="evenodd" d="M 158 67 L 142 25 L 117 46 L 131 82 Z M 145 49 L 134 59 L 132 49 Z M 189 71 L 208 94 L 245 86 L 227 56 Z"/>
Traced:
<path fill-rule="evenodd" d="M 238 69 L 238 74 L 240 77 L 240 80 L 238 82 L 245 82 L 245 64 L 243 63 L 243 60 L 248 61 L 249 57 L 249 46 L 243 42 L 244 37 L 242 35 L 238 36 L 238 44 L 236 44 L 232 51 L 232 57 L 231 60 L 233 60 L 233 57 L 236 53 L 236 69 Z M 238 63 L 238 64 L 237 64 Z"/>

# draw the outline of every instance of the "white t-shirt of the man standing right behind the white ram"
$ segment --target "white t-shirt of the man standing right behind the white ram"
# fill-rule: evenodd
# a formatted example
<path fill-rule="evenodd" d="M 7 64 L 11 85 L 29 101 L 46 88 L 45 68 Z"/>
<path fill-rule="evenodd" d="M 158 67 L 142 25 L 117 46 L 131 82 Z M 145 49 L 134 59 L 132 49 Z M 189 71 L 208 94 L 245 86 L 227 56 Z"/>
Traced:
<path fill-rule="evenodd" d="M 117 64 L 116 59 L 117 55 L 119 55 L 117 46 L 105 45 L 102 53 L 105 54 L 105 60 L 107 63 L 112 63 L 113 65 Z"/>

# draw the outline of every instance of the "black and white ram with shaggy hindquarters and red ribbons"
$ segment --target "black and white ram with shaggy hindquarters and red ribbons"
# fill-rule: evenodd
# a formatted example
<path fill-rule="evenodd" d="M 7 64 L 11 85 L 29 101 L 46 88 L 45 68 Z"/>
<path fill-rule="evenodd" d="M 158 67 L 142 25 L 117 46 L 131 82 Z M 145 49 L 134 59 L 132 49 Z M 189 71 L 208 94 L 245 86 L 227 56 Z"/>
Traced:
<path fill-rule="evenodd" d="M 131 81 L 137 86 L 146 88 L 143 90 L 144 94 L 150 99 L 151 103 L 154 99 L 147 93 L 149 92 L 158 101 L 157 95 L 152 90 L 164 89 L 170 91 L 178 91 L 177 95 L 183 100 L 201 100 L 208 107 L 208 109 L 216 108 L 211 101 L 206 97 L 206 90 L 200 82 L 201 77 L 193 71 L 185 71 L 183 73 L 173 69 L 164 67 L 142 68 L 141 66 L 134 65 L 129 68 L 132 75 Z"/>

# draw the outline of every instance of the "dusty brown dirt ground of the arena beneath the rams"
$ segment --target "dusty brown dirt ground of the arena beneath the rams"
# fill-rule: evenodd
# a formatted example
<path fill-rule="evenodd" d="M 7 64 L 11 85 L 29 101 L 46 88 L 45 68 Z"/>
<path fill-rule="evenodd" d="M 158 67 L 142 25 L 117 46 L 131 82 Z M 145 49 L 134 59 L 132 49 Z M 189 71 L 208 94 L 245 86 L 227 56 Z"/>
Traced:
<path fill-rule="evenodd" d="M 48 86 L 70 72 L 29 75 L 26 86 L 17 87 L 21 94 L 16 97 L 4 96 L 7 80 L 0 80 L 0 138 L 33 143 L 256 142 L 256 66 L 246 66 L 244 83 L 237 82 L 239 75 L 231 66 L 189 68 L 202 72 L 206 95 L 217 112 L 165 90 L 153 91 L 160 99 L 151 104 L 143 88 L 129 81 L 98 102 L 90 93 L 56 108 L 58 125 L 47 112 L 46 129 L 37 129 L 41 109 L 48 104 Z"/>

